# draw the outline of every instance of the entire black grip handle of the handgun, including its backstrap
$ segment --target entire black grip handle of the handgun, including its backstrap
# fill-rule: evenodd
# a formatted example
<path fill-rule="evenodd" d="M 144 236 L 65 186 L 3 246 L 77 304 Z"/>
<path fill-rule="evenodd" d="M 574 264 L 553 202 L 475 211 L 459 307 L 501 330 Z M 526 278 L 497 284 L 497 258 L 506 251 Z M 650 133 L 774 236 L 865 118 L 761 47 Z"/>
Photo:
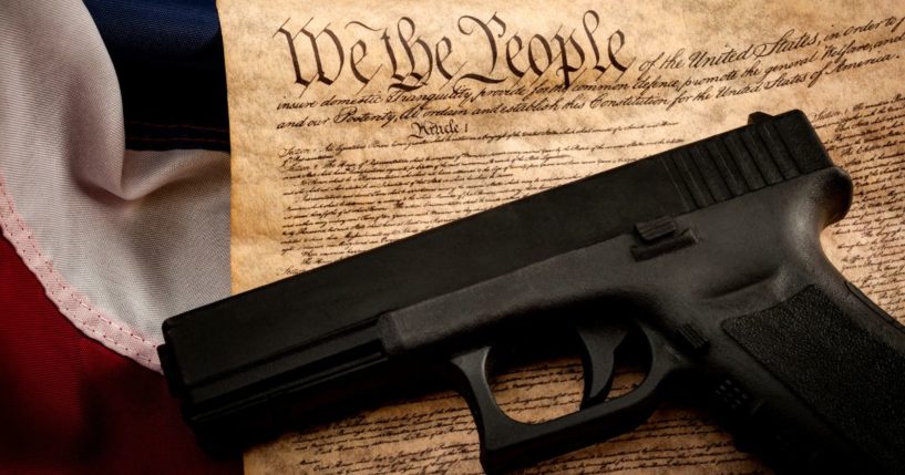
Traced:
<path fill-rule="evenodd" d="M 757 361 L 745 368 L 767 370 L 767 380 L 749 388 L 751 403 L 731 411 L 737 422 L 750 422 L 731 428 L 742 448 L 780 472 L 902 473 L 903 328 L 841 276 L 830 276 L 774 307 L 722 322 Z M 806 410 L 777 397 L 783 393 Z M 813 428 L 801 431 L 805 424 Z"/>

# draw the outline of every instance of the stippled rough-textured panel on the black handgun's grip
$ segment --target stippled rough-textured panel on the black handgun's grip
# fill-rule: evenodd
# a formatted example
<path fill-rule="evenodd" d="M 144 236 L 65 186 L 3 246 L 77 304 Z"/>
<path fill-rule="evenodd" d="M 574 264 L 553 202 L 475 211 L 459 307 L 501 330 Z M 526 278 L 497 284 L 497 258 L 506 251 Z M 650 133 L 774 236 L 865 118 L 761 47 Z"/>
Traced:
<path fill-rule="evenodd" d="M 903 473 L 905 357 L 860 324 L 876 320 L 875 307 L 850 303 L 863 312 L 847 314 L 811 286 L 722 327 L 837 435 L 888 472 Z"/>

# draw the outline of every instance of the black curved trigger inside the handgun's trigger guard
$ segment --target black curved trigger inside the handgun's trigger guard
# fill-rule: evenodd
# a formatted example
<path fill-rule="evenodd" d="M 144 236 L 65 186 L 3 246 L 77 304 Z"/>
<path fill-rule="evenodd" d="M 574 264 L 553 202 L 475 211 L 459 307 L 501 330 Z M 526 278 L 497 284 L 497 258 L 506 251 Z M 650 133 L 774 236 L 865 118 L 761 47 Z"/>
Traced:
<path fill-rule="evenodd" d="M 577 326 L 584 345 L 585 394 L 582 409 L 606 401 L 613 385 L 616 349 L 628 337 L 629 329 L 605 319 L 593 319 Z"/>

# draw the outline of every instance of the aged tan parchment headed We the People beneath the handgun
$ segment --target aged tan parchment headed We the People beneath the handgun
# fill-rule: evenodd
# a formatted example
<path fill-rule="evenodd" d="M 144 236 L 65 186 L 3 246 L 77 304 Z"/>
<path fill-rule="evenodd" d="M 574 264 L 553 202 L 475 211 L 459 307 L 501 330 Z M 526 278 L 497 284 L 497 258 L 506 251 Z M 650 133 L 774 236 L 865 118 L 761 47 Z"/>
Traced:
<path fill-rule="evenodd" d="M 823 236 L 827 252 L 905 318 L 905 7 L 896 1 L 218 7 L 234 291 L 737 127 L 752 111 L 801 109 L 855 180 L 849 217 Z M 511 413 L 549 417 L 574 410 L 579 381 L 575 364 L 555 362 L 497 389 Z M 287 434 L 250 451 L 246 468 L 480 472 L 476 434 L 452 393 Z M 633 433 L 533 471 L 764 468 L 706 415 L 668 406 Z"/>

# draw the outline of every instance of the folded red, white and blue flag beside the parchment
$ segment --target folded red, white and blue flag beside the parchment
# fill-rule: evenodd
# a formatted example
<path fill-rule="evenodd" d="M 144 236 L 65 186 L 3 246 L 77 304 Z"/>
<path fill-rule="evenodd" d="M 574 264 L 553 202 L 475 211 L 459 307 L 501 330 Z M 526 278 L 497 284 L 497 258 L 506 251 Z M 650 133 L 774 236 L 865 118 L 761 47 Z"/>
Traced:
<path fill-rule="evenodd" d="M 0 2 L 0 473 L 240 471 L 156 355 L 228 295 L 228 149 L 213 0 Z"/>

